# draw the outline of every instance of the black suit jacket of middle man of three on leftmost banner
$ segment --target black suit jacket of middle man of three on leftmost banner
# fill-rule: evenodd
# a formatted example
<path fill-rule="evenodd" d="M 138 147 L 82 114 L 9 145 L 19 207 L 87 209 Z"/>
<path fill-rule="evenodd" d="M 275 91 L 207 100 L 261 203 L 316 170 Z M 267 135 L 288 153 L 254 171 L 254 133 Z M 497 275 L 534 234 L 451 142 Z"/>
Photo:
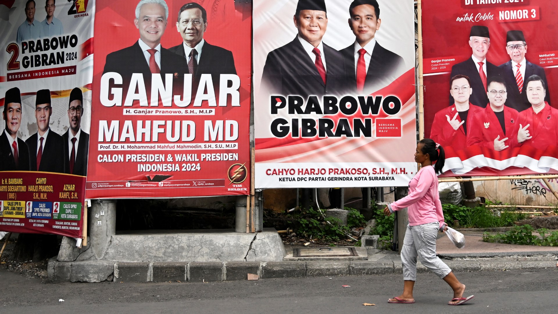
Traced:
<path fill-rule="evenodd" d="M 41 164 L 37 169 L 37 141 L 39 134 L 35 133 L 25 143 L 29 149 L 29 165 L 31 171 L 66 173 L 64 166 L 64 141 L 62 136 L 56 134 L 52 129 L 46 137 L 42 148 Z"/>

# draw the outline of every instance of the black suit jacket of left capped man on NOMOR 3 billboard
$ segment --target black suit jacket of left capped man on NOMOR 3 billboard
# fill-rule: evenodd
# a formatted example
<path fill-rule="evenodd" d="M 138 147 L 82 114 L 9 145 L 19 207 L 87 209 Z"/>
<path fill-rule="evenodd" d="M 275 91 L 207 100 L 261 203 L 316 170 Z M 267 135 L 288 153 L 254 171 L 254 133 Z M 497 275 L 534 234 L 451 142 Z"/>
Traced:
<path fill-rule="evenodd" d="M 486 59 L 485 59 L 485 61 L 486 61 Z M 487 65 L 487 73 L 485 73 L 485 74 L 487 75 L 487 81 L 491 77 L 501 77 L 502 76 L 502 69 L 498 68 L 498 66 L 496 66 L 492 63 L 489 63 L 488 61 L 486 61 L 486 65 Z M 450 78 L 453 78 L 455 75 L 458 75 L 458 74 L 466 75 L 471 80 L 471 87 L 473 88 L 473 93 L 471 94 L 471 97 L 469 98 L 469 102 L 472 103 L 472 104 L 475 104 L 479 107 L 486 108 L 486 106 L 488 104 L 487 92 L 484 89 L 483 81 L 480 80 L 480 75 L 479 75 L 479 72 L 477 70 L 477 65 L 475 65 L 475 61 L 473 61 L 473 58 L 469 58 L 469 59 L 467 59 L 467 60 L 465 60 L 461 63 L 455 64 L 454 66 L 451 67 Z M 448 90 L 449 90 L 449 88 L 448 88 Z M 449 103 L 450 103 L 450 105 L 455 103 L 453 97 L 451 97 L 451 94 L 450 94 L 450 102 Z"/>

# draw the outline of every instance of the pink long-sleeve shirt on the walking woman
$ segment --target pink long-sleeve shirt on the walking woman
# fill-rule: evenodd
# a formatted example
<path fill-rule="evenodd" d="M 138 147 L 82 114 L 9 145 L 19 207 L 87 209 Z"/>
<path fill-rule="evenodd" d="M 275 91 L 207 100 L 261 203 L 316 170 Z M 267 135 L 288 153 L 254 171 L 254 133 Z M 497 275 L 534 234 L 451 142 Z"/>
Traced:
<path fill-rule="evenodd" d="M 409 194 L 389 204 L 393 211 L 407 207 L 409 225 L 439 222 L 444 225 L 444 212 L 438 194 L 438 178 L 433 166 L 422 167 L 409 182 Z"/>

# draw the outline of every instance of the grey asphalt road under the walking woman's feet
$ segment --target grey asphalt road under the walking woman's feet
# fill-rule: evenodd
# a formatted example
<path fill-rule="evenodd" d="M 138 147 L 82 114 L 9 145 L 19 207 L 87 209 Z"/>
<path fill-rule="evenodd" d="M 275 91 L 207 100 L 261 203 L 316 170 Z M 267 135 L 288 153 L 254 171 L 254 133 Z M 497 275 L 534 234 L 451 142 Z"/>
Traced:
<path fill-rule="evenodd" d="M 556 313 L 558 308 L 558 268 L 456 275 L 467 286 L 465 296 L 475 295 L 469 304 L 447 305 L 451 289 L 431 273 L 419 274 L 416 303 L 406 305 L 386 302 L 401 293 L 402 275 L 45 284 L 0 272 L 0 313 Z"/>

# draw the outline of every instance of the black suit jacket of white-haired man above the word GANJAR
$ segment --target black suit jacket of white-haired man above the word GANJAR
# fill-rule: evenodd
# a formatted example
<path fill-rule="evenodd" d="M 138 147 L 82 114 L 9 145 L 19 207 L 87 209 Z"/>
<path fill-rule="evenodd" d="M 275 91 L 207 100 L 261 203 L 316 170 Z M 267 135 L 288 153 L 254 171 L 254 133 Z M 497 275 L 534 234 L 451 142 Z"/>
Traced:
<path fill-rule="evenodd" d="M 183 77 L 184 73 L 188 73 L 188 64 L 184 61 L 184 58 L 180 58 L 175 53 L 161 47 L 160 70 L 161 74 L 178 73 L 178 77 Z M 132 73 L 142 73 L 150 75 L 149 78 L 151 78 L 149 64 L 137 41 L 132 46 L 107 55 L 103 73 L 107 72 L 117 72 L 125 78 L 131 77 Z"/>

